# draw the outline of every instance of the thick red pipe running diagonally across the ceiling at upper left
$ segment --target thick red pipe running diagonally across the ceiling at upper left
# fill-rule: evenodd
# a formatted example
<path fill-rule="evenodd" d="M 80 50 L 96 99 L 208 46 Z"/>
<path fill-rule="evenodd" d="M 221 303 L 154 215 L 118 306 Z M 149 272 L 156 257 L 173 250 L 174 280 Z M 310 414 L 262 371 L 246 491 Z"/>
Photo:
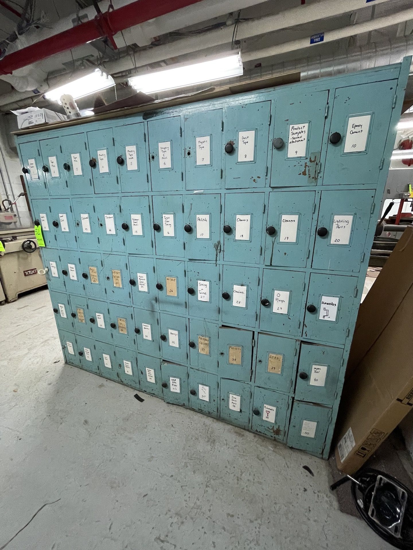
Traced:
<path fill-rule="evenodd" d="M 14 70 L 46 59 L 56 53 L 66 52 L 105 36 L 114 43 L 113 35 L 119 31 L 201 1 L 156 0 L 154 2 L 154 0 L 138 0 L 111 12 L 97 14 L 91 21 L 81 23 L 72 29 L 23 48 L 23 50 L 6 55 L 0 61 L 0 74 L 10 74 Z"/>

